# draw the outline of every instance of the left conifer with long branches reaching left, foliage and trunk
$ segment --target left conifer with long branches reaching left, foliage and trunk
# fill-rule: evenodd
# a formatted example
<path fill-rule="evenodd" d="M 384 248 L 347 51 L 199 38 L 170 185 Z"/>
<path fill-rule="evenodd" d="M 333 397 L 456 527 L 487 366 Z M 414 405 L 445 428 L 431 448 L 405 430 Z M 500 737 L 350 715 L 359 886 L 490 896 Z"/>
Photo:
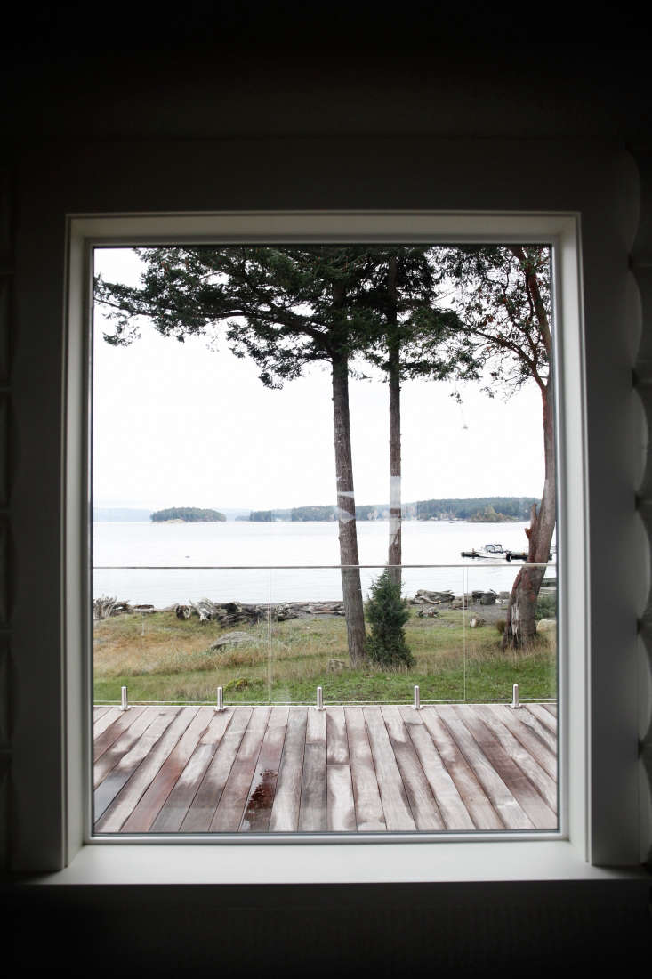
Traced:
<path fill-rule="evenodd" d="M 141 317 L 166 337 L 216 336 L 222 327 L 237 356 L 251 356 L 267 388 L 281 388 L 303 368 L 331 368 L 336 513 L 351 666 L 365 657 L 364 613 L 358 569 L 349 420 L 353 357 L 378 341 L 374 310 L 360 291 L 374 268 L 363 245 L 291 248 L 144 248 L 141 286 L 95 282 L 96 301 L 114 320 L 105 340 L 124 346 L 138 337 Z"/>

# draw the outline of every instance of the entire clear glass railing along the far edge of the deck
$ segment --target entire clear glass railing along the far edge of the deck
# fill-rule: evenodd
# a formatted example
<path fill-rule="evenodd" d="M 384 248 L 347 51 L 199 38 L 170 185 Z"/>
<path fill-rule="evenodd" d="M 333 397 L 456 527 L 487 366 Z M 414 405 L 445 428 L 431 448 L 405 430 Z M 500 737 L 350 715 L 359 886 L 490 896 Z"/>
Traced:
<path fill-rule="evenodd" d="M 480 561 L 404 566 L 406 653 L 369 648 L 369 599 L 383 566 L 359 574 L 367 655 L 350 663 L 337 567 L 121 568 L 94 571 L 95 703 L 422 703 L 556 698 L 556 567 Z M 542 575 L 536 632 L 503 641 L 519 575 Z"/>

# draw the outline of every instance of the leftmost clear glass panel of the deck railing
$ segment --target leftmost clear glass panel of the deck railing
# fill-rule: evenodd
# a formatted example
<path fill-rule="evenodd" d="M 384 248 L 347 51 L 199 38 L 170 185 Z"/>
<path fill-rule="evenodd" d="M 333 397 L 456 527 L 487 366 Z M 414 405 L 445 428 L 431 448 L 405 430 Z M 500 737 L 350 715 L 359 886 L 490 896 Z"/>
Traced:
<path fill-rule="evenodd" d="M 267 702 L 267 569 L 94 572 L 96 704 Z"/>

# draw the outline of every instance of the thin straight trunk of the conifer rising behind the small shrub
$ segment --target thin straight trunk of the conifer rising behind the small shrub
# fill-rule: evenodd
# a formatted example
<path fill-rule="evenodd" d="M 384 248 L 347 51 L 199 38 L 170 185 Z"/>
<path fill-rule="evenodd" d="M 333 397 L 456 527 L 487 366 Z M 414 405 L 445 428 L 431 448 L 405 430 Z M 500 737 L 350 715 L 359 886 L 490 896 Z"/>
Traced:
<path fill-rule="evenodd" d="M 400 340 L 396 335 L 396 256 L 388 266 L 388 382 L 390 388 L 390 580 L 400 584 L 402 561 L 400 523 Z"/>

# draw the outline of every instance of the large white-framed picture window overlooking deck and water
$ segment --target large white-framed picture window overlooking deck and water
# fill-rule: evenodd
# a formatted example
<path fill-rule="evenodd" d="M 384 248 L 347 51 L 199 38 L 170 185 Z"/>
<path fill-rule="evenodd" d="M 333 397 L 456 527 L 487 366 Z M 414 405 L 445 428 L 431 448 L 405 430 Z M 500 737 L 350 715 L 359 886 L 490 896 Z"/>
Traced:
<path fill-rule="evenodd" d="M 78 222 L 88 838 L 567 833 L 572 219 L 202 221 Z"/>

